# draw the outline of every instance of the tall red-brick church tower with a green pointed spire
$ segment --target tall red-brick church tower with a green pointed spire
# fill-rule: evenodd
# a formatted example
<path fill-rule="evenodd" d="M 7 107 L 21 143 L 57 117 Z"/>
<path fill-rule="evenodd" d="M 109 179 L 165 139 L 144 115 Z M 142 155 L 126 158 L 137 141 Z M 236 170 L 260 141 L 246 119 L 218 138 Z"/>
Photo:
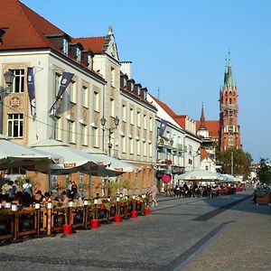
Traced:
<path fill-rule="evenodd" d="M 224 84 L 220 88 L 220 151 L 239 149 L 240 127 L 238 126 L 238 89 L 233 83 L 230 53 L 226 60 Z"/>

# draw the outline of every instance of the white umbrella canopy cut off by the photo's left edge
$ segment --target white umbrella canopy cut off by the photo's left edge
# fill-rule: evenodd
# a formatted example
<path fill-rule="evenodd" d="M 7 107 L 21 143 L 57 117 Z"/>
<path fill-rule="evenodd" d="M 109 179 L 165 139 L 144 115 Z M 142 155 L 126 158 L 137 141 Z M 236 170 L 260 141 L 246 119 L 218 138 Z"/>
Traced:
<path fill-rule="evenodd" d="M 30 147 L 19 145 L 5 135 L 0 135 L 0 169 L 21 167 L 36 170 L 37 166 L 52 163 L 50 154 L 44 154 Z"/>

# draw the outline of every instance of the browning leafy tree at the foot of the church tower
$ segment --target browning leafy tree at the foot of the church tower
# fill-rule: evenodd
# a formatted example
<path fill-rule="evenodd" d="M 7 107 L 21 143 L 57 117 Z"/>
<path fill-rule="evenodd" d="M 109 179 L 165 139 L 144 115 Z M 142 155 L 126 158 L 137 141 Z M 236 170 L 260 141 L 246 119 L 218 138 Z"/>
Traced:
<path fill-rule="evenodd" d="M 218 151 L 217 161 L 221 165 L 220 173 L 243 175 L 245 179 L 248 179 L 252 163 L 251 154 L 230 148 L 225 152 Z"/>

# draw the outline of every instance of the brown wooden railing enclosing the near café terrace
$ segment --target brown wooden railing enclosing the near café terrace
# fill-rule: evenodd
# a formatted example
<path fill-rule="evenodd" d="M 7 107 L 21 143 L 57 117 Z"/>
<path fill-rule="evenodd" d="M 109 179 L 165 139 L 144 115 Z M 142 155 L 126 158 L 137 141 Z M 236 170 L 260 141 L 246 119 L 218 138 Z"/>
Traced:
<path fill-rule="evenodd" d="M 33 208 L 19 210 L 1 209 L 0 243 L 60 233 L 65 221 L 73 229 L 91 229 L 91 220 L 94 218 L 98 218 L 98 223 L 110 222 L 118 212 L 123 219 L 127 219 L 131 217 L 132 210 L 143 214 L 145 204 L 129 200 L 125 203 L 109 201 L 96 205 L 92 202 L 91 205 L 88 203 L 76 207 L 50 207 L 35 205 Z"/>

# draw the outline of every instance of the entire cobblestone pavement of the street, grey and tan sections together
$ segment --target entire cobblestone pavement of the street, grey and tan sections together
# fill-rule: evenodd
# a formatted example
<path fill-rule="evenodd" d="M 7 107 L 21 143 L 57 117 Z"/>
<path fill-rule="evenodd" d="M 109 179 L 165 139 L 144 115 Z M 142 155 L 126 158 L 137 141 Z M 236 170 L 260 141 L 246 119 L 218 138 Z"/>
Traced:
<path fill-rule="evenodd" d="M 0 270 L 267 270 L 271 206 L 158 196 L 149 216 L 0 247 Z"/>

